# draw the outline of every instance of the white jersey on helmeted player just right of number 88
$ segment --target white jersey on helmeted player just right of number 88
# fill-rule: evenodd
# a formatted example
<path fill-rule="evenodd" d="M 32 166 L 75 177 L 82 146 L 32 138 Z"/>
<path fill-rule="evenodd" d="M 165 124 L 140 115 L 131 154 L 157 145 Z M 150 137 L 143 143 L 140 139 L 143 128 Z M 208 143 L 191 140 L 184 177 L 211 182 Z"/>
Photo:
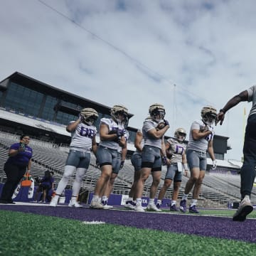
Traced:
<path fill-rule="evenodd" d="M 104 117 L 104 118 L 100 119 L 100 124 L 107 124 L 107 127 L 109 128 L 109 132 L 117 130 L 117 129 L 121 129 L 121 130 L 124 129 L 123 124 L 117 124 L 111 118 L 105 118 Z M 128 139 L 129 138 L 129 132 L 127 130 L 125 130 L 125 131 L 126 131 L 126 133 L 124 134 L 124 137 L 126 139 Z M 119 143 L 117 142 L 117 140 L 114 140 L 114 141 L 100 141 L 99 145 L 100 146 L 105 146 L 109 149 L 115 149 L 119 152 L 122 150 L 122 147 L 119 146 Z"/>

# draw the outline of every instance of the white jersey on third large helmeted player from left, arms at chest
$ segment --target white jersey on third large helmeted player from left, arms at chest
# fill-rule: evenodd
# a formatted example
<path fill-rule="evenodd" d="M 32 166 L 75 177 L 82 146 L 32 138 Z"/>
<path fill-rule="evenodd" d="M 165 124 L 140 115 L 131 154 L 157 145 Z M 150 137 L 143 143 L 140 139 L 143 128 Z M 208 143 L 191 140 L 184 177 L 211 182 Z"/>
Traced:
<path fill-rule="evenodd" d="M 164 140 L 164 136 L 161 139 L 154 139 L 152 138 L 148 132 L 151 129 L 156 129 L 159 122 L 155 122 L 153 119 L 146 119 L 143 123 L 142 127 L 142 134 L 144 137 L 144 145 L 147 146 L 155 146 L 159 149 L 161 149 L 161 143 Z"/>

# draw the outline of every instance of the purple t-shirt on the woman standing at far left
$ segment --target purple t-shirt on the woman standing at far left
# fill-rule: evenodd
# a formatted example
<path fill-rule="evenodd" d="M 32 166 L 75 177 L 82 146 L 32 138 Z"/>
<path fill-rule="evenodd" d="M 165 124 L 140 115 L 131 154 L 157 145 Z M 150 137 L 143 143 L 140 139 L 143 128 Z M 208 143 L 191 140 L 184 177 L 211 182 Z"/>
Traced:
<path fill-rule="evenodd" d="M 10 149 L 18 149 L 20 146 L 19 143 L 14 143 L 10 146 Z M 25 151 L 20 151 L 16 156 L 9 156 L 7 159 L 7 163 L 9 164 L 16 164 L 18 166 L 27 166 L 29 159 L 31 159 L 33 151 L 31 147 L 25 146 Z"/>

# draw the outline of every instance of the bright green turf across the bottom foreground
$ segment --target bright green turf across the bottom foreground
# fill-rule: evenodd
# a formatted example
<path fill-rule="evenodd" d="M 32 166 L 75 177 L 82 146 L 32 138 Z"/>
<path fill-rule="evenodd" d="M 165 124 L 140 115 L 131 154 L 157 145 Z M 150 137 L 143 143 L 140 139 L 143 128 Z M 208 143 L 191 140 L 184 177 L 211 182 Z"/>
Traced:
<path fill-rule="evenodd" d="M 255 255 L 256 244 L 0 210 L 0 255 Z"/>

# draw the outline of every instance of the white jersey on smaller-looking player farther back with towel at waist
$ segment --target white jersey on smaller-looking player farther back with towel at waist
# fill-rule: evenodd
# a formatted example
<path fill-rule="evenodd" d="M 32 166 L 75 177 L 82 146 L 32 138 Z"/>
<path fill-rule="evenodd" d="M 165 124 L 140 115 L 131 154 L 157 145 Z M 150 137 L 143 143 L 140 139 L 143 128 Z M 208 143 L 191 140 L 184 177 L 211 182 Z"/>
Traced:
<path fill-rule="evenodd" d="M 177 139 L 167 139 L 170 144 L 167 152 L 171 154 L 171 163 L 182 163 L 182 155 L 186 151 L 186 144 Z"/>

